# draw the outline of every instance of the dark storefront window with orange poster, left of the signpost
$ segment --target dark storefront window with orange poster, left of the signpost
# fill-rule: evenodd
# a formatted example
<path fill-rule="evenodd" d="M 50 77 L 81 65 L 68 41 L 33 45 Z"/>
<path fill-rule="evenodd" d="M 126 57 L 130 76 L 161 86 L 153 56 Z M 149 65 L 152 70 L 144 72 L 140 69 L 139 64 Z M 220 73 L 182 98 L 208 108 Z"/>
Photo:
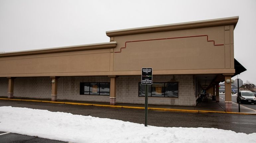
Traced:
<path fill-rule="evenodd" d="M 80 95 L 106 95 L 109 96 L 110 83 L 80 82 Z"/>

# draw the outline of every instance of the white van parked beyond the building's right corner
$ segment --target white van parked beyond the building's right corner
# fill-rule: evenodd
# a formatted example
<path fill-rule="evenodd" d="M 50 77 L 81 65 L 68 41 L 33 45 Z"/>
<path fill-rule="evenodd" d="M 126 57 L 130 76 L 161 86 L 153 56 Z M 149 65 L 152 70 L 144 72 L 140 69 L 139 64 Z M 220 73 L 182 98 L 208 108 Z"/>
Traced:
<path fill-rule="evenodd" d="M 251 91 L 239 91 L 239 100 L 240 103 L 253 103 L 256 104 L 256 97 Z M 236 98 L 238 103 L 238 97 Z"/>

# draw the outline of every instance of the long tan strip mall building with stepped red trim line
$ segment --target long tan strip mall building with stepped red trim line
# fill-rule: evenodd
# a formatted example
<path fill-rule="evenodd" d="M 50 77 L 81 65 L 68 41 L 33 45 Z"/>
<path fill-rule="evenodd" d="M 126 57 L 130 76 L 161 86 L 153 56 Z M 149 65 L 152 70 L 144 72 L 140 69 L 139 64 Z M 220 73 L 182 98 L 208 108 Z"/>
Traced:
<path fill-rule="evenodd" d="M 141 68 L 153 68 L 149 104 L 195 106 L 202 89 L 218 100 L 245 69 L 234 59 L 238 17 L 107 31 L 110 42 L 0 54 L 0 96 L 144 104 Z M 217 88 L 216 88 L 217 87 Z"/>

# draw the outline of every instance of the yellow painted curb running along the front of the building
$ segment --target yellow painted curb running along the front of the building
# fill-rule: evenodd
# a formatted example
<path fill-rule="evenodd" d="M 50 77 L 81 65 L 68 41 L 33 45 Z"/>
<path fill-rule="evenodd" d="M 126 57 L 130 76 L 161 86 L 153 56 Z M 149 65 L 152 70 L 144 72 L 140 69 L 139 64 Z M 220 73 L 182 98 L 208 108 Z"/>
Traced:
<path fill-rule="evenodd" d="M 118 107 L 118 108 L 145 109 L 145 107 L 116 106 L 116 105 L 99 105 L 99 104 L 73 103 L 73 102 L 56 102 L 56 101 L 41 101 L 41 100 L 27 100 L 27 99 L 7 99 L 7 98 L 0 98 L 0 100 L 14 100 L 14 101 L 30 101 L 30 102 L 44 102 L 44 103 L 59 103 L 59 104 L 70 104 L 70 105 L 84 105 L 84 106 L 100 106 L 100 107 Z M 226 112 L 226 111 L 186 110 L 186 109 L 169 109 L 169 108 L 153 108 L 153 107 L 148 107 L 148 109 L 149 109 L 149 110 L 171 111 L 171 112 L 229 113 L 229 114 L 256 115 L 256 113 L 241 113 L 241 112 L 239 113 L 239 112 Z"/>

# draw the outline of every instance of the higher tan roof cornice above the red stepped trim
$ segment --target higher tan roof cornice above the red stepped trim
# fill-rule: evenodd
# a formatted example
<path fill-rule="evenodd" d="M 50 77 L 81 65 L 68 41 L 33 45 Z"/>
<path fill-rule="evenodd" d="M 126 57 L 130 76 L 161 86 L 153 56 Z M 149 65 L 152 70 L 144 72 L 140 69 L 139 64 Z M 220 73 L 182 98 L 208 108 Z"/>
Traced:
<path fill-rule="evenodd" d="M 201 21 L 192 21 L 192 22 L 184 22 L 184 23 L 121 29 L 121 30 L 106 31 L 106 35 L 109 37 L 112 37 L 112 36 L 143 34 L 143 33 L 153 33 L 153 32 L 162 32 L 162 31 L 174 31 L 174 30 L 182 30 L 182 29 L 213 27 L 213 26 L 221 26 L 221 25 L 234 25 L 234 28 L 235 28 L 238 22 L 238 19 L 239 17 L 235 16 L 235 17 L 227 17 L 227 18 L 219 18 L 219 19 L 211 19 L 211 20 L 201 20 Z"/>

